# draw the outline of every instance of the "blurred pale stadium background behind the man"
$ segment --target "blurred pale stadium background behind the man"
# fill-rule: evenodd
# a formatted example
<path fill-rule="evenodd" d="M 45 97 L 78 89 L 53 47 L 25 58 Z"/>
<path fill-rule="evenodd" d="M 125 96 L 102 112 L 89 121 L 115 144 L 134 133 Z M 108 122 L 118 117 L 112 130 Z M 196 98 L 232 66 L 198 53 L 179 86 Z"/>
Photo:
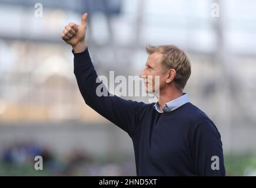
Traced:
<path fill-rule="evenodd" d="M 136 175 L 132 140 L 85 105 L 71 46 L 61 39 L 64 26 L 88 12 L 98 75 L 138 75 L 147 44 L 184 49 L 192 65 L 184 92 L 218 127 L 227 176 L 255 176 L 255 7 L 253 0 L 0 0 L 0 175 Z M 44 170 L 34 169 L 37 155 Z"/>

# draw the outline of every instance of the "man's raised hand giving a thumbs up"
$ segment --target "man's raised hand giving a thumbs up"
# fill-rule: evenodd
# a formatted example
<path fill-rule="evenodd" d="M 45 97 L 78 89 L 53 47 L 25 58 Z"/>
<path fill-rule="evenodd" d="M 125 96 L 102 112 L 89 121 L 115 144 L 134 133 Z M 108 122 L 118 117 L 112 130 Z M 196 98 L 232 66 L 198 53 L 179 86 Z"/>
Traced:
<path fill-rule="evenodd" d="M 69 23 L 65 26 L 61 38 L 71 45 L 75 53 L 83 52 L 87 48 L 85 33 L 87 31 L 87 13 L 82 15 L 81 25 Z"/>

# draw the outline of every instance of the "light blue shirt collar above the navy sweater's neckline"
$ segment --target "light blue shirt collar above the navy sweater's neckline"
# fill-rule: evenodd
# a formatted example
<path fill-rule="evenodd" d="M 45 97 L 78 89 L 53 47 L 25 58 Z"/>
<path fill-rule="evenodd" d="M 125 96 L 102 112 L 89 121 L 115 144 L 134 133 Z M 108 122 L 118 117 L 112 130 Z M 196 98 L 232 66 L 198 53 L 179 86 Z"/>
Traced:
<path fill-rule="evenodd" d="M 171 112 L 172 110 L 175 110 L 175 109 L 179 108 L 179 106 L 182 106 L 188 102 L 189 102 L 188 93 L 183 93 L 183 95 L 180 96 L 179 98 L 171 100 L 168 103 L 166 103 L 164 108 L 162 108 L 162 110 L 164 112 Z M 155 110 L 157 110 L 157 112 L 161 113 L 158 102 L 155 103 L 154 108 L 155 108 Z"/>

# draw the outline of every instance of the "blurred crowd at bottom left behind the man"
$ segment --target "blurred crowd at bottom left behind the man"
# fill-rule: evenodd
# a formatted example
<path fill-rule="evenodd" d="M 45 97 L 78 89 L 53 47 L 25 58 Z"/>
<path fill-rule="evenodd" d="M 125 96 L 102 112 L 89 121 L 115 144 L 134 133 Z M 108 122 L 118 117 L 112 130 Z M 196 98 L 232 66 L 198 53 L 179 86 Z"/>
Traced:
<path fill-rule="evenodd" d="M 43 170 L 35 170 L 35 156 L 42 156 Z M 15 142 L 1 151 L 1 176 L 134 176 L 134 164 L 129 160 L 101 159 L 79 149 L 68 155 L 57 155 L 50 147 L 36 142 Z M 18 173 L 22 171 L 22 173 Z M 15 173 L 16 172 L 16 173 Z"/>

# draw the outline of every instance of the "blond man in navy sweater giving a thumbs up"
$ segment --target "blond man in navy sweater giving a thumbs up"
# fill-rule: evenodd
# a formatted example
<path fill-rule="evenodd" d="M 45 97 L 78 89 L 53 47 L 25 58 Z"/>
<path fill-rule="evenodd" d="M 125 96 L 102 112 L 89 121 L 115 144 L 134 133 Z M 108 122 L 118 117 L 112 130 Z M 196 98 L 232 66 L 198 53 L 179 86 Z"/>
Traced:
<path fill-rule="evenodd" d="M 172 45 L 147 46 L 149 57 L 140 76 L 147 92 L 155 92 L 155 76 L 159 76 L 157 103 L 99 97 L 95 91 L 101 83 L 96 82 L 86 30 L 87 13 L 81 25 L 70 23 L 62 33 L 62 39 L 73 48 L 79 90 L 87 105 L 131 136 L 137 175 L 225 176 L 217 127 L 182 92 L 191 74 L 185 53 Z"/>

